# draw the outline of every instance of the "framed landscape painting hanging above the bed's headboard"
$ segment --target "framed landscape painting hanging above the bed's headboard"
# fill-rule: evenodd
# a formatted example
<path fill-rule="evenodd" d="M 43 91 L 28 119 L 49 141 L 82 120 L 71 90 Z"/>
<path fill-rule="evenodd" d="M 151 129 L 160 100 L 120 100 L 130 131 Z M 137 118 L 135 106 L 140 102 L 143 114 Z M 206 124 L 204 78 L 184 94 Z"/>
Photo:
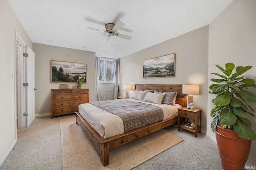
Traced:
<path fill-rule="evenodd" d="M 176 73 L 176 53 L 142 61 L 143 78 L 174 77 Z"/>

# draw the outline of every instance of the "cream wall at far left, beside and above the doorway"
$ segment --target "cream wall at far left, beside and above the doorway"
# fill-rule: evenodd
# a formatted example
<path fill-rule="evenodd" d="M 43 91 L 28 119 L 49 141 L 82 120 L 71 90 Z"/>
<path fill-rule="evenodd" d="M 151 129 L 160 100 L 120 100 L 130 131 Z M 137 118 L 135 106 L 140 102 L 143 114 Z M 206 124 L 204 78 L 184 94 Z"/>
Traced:
<path fill-rule="evenodd" d="M 0 165 L 15 144 L 15 31 L 32 49 L 32 41 L 7 0 L 0 0 Z"/>

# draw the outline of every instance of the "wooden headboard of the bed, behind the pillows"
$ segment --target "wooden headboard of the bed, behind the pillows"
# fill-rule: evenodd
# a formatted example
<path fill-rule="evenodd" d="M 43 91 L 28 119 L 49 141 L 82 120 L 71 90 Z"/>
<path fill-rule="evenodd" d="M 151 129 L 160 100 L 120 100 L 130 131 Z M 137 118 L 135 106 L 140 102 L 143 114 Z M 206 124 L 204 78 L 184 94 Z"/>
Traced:
<path fill-rule="evenodd" d="M 134 84 L 134 90 L 164 90 L 164 92 L 178 92 L 176 103 L 187 106 L 186 94 L 182 93 L 182 84 Z"/>

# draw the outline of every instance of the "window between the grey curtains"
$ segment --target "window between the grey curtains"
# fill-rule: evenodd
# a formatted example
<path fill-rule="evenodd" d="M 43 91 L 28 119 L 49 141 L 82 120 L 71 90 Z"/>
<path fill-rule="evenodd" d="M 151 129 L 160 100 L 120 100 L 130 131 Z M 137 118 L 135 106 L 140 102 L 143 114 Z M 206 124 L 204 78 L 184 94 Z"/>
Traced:
<path fill-rule="evenodd" d="M 100 59 L 98 82 L 114 83 L 114 61 L 113 59 Z"/>

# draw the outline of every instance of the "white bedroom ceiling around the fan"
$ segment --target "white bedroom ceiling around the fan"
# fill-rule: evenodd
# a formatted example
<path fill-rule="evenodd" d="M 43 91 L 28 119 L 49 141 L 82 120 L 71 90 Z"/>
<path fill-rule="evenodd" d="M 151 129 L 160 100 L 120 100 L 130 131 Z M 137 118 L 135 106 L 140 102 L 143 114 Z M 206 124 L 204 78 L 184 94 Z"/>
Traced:
<path fill-rule="evenodd" d="M 211 23 L 232 0 L 8 0 L 33 43 L 121 58 Z M 126 25 L 111 37 L 105 24 Z M 50 42 L 51 41 L 51 42 Z"/>

